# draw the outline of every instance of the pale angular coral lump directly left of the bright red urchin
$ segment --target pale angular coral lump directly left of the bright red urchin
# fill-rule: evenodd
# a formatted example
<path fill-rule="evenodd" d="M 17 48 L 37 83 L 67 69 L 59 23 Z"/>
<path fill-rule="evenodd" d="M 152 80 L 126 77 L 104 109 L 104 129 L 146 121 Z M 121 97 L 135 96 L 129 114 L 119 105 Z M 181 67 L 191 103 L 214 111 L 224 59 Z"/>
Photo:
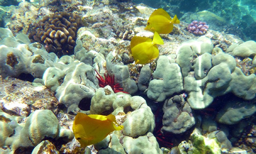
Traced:
<path fill-rule="evenodd" d="M 98 80 L 95 77 L 93 67 L 82 62 L 71 63 L 68 65 L 65 74 L 63 83 L 56 93 L 60 103 L 68 108 L 71 105 L 78 106 L 82 99 L 90 100 L 92 98 L 98 87 Z M 90 104 L 87 101 L 83 103 Z"/>

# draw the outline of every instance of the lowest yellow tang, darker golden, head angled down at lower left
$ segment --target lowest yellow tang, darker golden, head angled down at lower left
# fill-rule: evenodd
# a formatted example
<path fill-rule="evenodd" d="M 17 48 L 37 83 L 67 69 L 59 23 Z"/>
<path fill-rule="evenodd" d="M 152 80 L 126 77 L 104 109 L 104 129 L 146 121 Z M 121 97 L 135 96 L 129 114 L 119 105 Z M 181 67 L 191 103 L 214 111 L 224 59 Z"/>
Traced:
<path fill-rule="evenodd" d="M 120 131 L 124 126 L 118 125 L 116 117 L 112 114 L 103 115 L 86 115 L 77 113 L 73 123 L 73 132 L 75 138 L 82 147 L 102 141 L 109 133 Z"/>

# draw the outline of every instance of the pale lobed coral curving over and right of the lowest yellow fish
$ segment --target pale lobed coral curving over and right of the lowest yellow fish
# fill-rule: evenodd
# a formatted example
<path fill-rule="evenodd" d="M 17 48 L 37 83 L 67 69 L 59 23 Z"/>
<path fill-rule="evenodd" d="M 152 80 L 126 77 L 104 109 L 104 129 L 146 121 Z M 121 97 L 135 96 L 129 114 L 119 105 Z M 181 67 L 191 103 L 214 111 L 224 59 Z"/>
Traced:
<path fill-rule="evenodd" d="M 120 153 L 153 152 L 161 154 L 162 151 L 152 134 L 155 121 L 154 115 L 147 106 L 145 99 L 140 96 L 131 97 L 128 94 L 114 93 L 110 86 L 99 88 L 92 98 L 90 108 L 92 114 L 117 115 L 117 121 L 124 126 L 122 133 L 113 132 L 95 148 L 100 152 L 116 150 Z M 118 140 L 121 138 L 121 140 Z M 121 143 L 121 144 L 120 144 Z M 134 144 L 134 146 L 130 146 Z"/>

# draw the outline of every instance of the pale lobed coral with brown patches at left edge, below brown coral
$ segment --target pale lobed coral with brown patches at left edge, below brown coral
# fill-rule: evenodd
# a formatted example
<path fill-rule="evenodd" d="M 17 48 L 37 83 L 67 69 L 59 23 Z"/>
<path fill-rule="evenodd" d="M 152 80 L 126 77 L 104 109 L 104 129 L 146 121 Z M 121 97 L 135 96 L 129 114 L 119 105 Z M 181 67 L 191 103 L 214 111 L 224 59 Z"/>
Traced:
<path fill-rule="evenodd" d="M 0 31 L 0 74 L 3 78 L 22 74 L 42 78 L 46 68 L 56 61 L 56 55 L 48 54 L 38 43 L 30 44 L 26 35 L 14 37 L 9 29 L 0 28 Z"/>

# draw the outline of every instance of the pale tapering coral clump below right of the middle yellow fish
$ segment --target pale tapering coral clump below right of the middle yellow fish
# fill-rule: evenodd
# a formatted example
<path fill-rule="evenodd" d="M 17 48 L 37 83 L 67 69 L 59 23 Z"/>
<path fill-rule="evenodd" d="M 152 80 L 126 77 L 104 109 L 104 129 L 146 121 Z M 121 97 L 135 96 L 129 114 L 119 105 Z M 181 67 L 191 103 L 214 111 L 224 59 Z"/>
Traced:
<path fill-rule="evenodd" d="M 147 96 L 157 102 L 183 90 L 183 78 L 179 65 L 170 63 L 166 56 L 157 60 L 153 80 L 149 82 Z"/>

